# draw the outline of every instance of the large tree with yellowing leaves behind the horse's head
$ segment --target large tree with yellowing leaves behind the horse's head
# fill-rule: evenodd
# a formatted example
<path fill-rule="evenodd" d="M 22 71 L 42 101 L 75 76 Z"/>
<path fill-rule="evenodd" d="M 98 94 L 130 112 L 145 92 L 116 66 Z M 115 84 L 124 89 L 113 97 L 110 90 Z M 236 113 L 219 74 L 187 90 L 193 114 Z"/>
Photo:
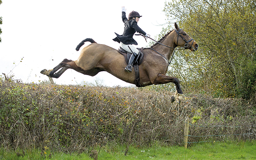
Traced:
<path fill-rule="evenodd" d="M 169 20 L 199 44 L 197 52 L 176 52 L 172 63 L 186 90 L 249 99 L 256 90 L 255 0 L 166 2 Z"/>

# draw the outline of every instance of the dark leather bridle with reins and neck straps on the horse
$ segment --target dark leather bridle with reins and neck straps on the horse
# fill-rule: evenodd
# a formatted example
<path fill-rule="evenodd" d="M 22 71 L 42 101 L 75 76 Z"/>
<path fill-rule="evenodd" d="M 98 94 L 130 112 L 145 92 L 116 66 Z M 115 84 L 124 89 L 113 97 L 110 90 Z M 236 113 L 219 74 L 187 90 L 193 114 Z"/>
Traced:
<path fill-rule="evenodd" d="M 160 43 L 160 42 L 154 40 L 153 38 L 150 38 L 150 35 L 148 35 L 148 37 L 144 36 L 143 34 L 135 34 L 135 35 L 136 35 L 136 36 L 138 36 L 138 35 L 143 36 L 143 37 L 145 38 L 145 40 L 146 40 L 146 38 L 149 38 L 150 40 L 153 40 L 153 41 L 155 41 L 156 43 L 161 44 L 162 46 L 166 46 L 166 47 L 168 47 L 168 48 L 174 48 L 174 51 L 173 51 L 173 53 L 172 53 L 172 58 L 173 58 L 175 50 L 185 50 L 186 48 L 188 48 L 189 42 L 193 41 L 192 44 L 194 43 L 194 39 L 192 39 L 192 38 L 191 38 L 190 40 L 188 40 L 188 41 L 185 40 L 185 38 L 182 37 L 182 36 L 180 35 L 180 33 L 179 33 L 181 30 L 182 30 L 182 29 L 177 30 L 177 29 L 175 28 L 175 31 L 176 31 L 176 33 L 178 34 L 178 38 L 177 38 L 177 43 L 176 43 L 176 45 L 178 44 L 179 36 L 180 36 L 186 43 L 184 44 L 184 47 L 178 47 L 177 49 L 175 49 L 176 47 L 166 46 L 166 45 L 164 45 L 164 44 L 162 44 L 162 43 Z M 147 40 L 146 40 L 146 42 L 147 42 Z M 151 48 L 151 47 L 150 47 L 150 49 L 154 50 L 154 49 Z M 157 52 L 156 50 L 154 50 L 154 51 L 155 51 L 156 53 L 160 54 L 160 53 Z M 165 56 L 163 56 L 162 54 L 160 54 L 160 55 L 161 55 L 162 57 L 164 57 L 164 58 L 167 60 L 168 66 L 169 66 L 169 65 L 171 64 L 171 62 L 172 62 L 172 58 L 171 58 L 171 60 L 170 60 L 170 62 L 169 62 L 169 60 L 168 60 Z M 167 68 L 168 68 L 168 66 L 167 66 Z"/>

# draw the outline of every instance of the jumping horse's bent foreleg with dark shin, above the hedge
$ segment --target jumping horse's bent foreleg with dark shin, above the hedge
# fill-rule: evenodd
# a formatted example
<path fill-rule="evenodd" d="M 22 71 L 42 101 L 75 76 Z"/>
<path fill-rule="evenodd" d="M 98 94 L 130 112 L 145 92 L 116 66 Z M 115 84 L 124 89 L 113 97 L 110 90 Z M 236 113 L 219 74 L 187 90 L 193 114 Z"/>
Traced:
<path fill-rule="evenodd" d="M 178 100 L 178 102 L 180 103 L 182 101 L 183 92 L 181 90 L 180 81 L 178 80 L 178 78 L 169 77 L 159 73 L 156 79 L 154 80 L 154 84 L 166 84 L 170 82 L 174 83 L 176 86 L 176 92 L 172 96 L 172 102 L 174 102 L 175 100 Z"/>

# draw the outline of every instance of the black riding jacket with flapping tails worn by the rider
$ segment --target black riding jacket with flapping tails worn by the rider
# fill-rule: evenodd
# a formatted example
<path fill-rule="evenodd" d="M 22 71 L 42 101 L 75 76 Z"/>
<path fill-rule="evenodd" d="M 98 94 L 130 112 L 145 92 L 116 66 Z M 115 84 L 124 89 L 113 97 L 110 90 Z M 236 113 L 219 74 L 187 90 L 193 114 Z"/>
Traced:
<path fill-rule="evenodd" d="M 146 32 L 144 32 L 140 27 L 138 26 L 137 22 L 135 20 L 128 20 L 126 18 L 126 13 L 122 12 L 122 20 L 124 22 L 124 33 L 122 35 L 116 34 L 116 38 L 113 40 L 123 44 L 135 44 L 138 45 L 136 40 L 133 39 L 133 35 L 135 32 L 139 32 L 143 35 L 146 35 Z"/>

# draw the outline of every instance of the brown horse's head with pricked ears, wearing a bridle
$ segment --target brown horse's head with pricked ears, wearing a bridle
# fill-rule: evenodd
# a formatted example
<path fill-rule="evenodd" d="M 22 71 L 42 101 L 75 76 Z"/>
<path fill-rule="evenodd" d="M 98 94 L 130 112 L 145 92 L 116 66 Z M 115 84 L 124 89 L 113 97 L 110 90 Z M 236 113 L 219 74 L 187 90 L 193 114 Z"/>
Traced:
<path fill-rule="evenodd" d="M 174 24 L 175 26 L 175 31 L 177 33 L 177 40 L 176 40 L 176 45 L 184 47 L 185 49 L 190 49 L 191 51 L 196 51 L 198 50 L 198 44 L 194 39 L 192 39 L 186 32 L 184 32 L 182 29 L 178 27 L 178 25 Z"/>

